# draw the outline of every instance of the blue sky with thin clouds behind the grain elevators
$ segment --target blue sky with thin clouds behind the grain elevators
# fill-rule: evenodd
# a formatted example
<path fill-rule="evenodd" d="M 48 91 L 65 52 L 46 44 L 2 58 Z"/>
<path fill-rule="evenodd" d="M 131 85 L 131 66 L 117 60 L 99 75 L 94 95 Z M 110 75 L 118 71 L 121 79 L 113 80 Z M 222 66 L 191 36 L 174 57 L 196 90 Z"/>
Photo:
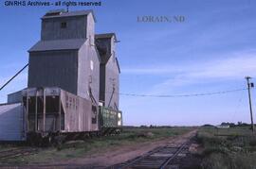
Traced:
<path fill-rule="evenodd" d="M 27 50 L 40 39 L 40 17 L 48 9 L 1 4 L 0 84 L 27 63 Z M 92 9 L 96 32 L 116 32 L 120 41 L 120 93 L 210 93 L 245 88 L 245 76 L 256 78 L 255 1 L 104 0 Z M 137 16 L 149 15 L 183 15 L 186 20 L 137 22 Z M 27 70 L 0 92 L 0 102 L 26 85 Z M 252 101 L 256 111 L 254 90 Z M 136 126 L 250 120 L 247 91 L 178 98 L 120 95 L 120 110 L 124 125 Z"/>

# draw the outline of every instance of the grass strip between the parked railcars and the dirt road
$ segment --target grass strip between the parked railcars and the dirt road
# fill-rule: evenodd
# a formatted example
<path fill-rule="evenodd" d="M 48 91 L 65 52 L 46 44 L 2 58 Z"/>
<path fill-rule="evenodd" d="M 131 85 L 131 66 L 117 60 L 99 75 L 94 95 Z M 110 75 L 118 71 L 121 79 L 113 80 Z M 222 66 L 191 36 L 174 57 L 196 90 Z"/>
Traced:
<path fill-rule="evenodd" d="M 55 147 L 42 148 L 39 153 L 15 159 L 1 161 L 0 164 L 38 164 L 56 161 L 66 161 L 82 158 L 91 154 L 101 154 L 118 149 L 123 145 L 152 142 L 168 137 L 174 137 L 192 130 L 191 127 L 172 128 L 141 128 L 127 127 L 122 133 L 115 136 L 105 136 L 85 141 L 63 144 L 61 149 Z M 1 150 L 0 146 L 0 150 Z"/>

